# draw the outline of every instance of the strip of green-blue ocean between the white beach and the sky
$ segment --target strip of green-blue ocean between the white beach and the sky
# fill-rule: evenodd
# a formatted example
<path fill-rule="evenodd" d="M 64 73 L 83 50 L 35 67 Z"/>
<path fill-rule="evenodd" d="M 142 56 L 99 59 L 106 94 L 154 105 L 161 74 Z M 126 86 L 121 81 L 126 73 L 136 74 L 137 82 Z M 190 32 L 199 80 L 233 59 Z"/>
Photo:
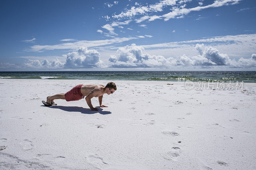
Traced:
<path fill-rule="evenodd" d="M 2 78 L 256 83 L 256 71 L 1 71 Z"/>

